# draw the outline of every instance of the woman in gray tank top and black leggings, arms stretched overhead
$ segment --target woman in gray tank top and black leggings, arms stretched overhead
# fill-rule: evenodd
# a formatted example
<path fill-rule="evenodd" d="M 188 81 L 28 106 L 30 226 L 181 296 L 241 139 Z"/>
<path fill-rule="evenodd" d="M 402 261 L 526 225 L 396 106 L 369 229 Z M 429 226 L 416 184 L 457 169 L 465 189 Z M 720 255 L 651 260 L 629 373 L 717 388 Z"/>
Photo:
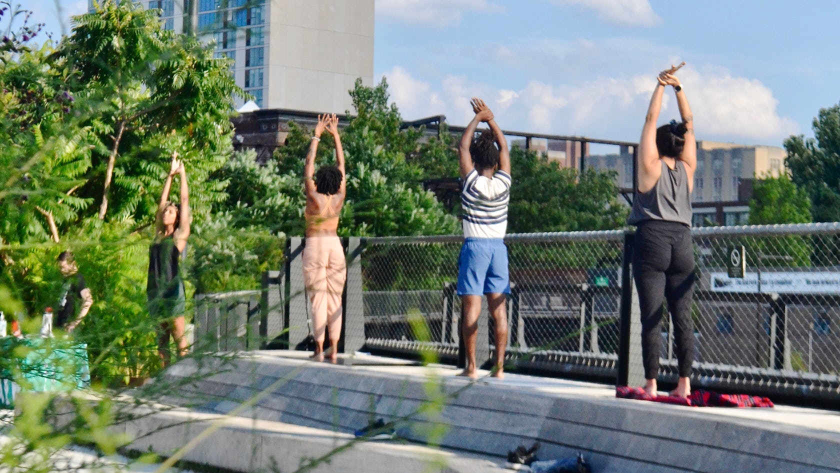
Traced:
<path fill-rule="evenodd" d="M 683 63 L 685 64 L 685 63 Z M 671 395 L 688 397 L 694 359 L 694 252 L 691 243 L 691 190 L 697 163 L 694 119 L 685 90 L 671 66 L 657 77 L 654 96 L 636 153 L 638 182 L 627 223 L 637 226 L 633 246 L 633 280 L 642 314 L 644 390 L 655 396 L 661 349 L 662 302 L 674 321 L 679 382 Z M 666 87 L 673 87 L 681 123 L 656 128 Z"/>

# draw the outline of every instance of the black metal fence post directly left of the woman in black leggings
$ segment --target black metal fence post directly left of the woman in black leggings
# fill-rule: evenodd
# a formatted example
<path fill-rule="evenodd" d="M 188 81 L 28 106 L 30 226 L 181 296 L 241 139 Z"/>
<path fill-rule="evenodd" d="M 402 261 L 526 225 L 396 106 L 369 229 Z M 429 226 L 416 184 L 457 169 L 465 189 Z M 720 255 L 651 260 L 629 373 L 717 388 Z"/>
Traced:
<path fill-rule="evenodd" d="M 633 239 L 624 234 L 622 257 L 622 300 L 619 309 L 621 322 L 618 334 L 617 386 L 639 386 L 644 383 L 642 368 L 642 320 L 638 308 L 638 293 L 633 283 Z"/>

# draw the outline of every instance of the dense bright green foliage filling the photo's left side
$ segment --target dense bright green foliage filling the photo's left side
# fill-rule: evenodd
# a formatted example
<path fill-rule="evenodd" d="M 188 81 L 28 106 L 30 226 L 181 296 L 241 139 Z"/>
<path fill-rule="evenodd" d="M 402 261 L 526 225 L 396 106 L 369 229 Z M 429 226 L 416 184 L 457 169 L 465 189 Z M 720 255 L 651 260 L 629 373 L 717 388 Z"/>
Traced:
<path fill-rule="evenodd" d="M 0 152 L 0 310 L 23 313 L 31 333 L 59 296 L 55 257 L 73 250 L 94 298 L 76 338 L 87 341 L 97 379 L 120 384 L 157 366 L 145 280 L 171 152 L 186 162 L 195 239 L 206 241 L 200 229 L 227 183 L 208 176 L 231 153 L 229 116 L 243 92 L 212 47 L 161 29 L 132 2 L 100 5 L 74 18 L 55 49 L 0 47 L 0 139 L 9 144 Z M 257 253 L 276 252 L 260 231 Z"/>

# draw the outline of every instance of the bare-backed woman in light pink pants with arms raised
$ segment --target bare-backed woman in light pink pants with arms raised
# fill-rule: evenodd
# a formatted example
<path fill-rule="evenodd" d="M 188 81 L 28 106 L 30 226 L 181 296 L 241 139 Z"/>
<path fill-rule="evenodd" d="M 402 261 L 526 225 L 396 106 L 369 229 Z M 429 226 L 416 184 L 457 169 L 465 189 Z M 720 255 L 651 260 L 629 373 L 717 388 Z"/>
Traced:
<path fill-rule="evenodd" d="M 333 135 L 336 166 L 321 166 L 315 172 L 315 155 L 324 130 Z M 307 237 L 303 250 L 303 279 L 312 302 L 313 358 L 323 361 L 324 335 L 329 329 L 328 356 L 335 363 L 341 336 L 341 294 L 347 277 L 344 247 L 336 233 L 344 205 L 346 179 L 339 118 L 335 113 L 318 115 L 304 167 L 303 186 L 307 195 L 307 207 L 303 212 Z"/>

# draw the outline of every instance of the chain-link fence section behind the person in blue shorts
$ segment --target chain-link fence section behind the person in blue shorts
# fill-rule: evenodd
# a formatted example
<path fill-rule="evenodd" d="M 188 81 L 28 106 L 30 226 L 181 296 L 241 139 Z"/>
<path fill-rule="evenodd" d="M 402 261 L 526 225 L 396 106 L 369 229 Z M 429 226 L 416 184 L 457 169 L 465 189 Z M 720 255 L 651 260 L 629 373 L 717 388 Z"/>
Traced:
<path fill-rule="evenodd" d="M 512 363 L 615 376 L 623 239 L 622 232 L 507 236 Z M 370 349 L 433 349 L 442 360 L 458 355 L 460 300 L 454 282 L 461 242 L 452 236 L 363 240 Z M 486 307 L 482 311 L 486 315 Z M 485 328 L 479 329 L 484 335 Z"/>

